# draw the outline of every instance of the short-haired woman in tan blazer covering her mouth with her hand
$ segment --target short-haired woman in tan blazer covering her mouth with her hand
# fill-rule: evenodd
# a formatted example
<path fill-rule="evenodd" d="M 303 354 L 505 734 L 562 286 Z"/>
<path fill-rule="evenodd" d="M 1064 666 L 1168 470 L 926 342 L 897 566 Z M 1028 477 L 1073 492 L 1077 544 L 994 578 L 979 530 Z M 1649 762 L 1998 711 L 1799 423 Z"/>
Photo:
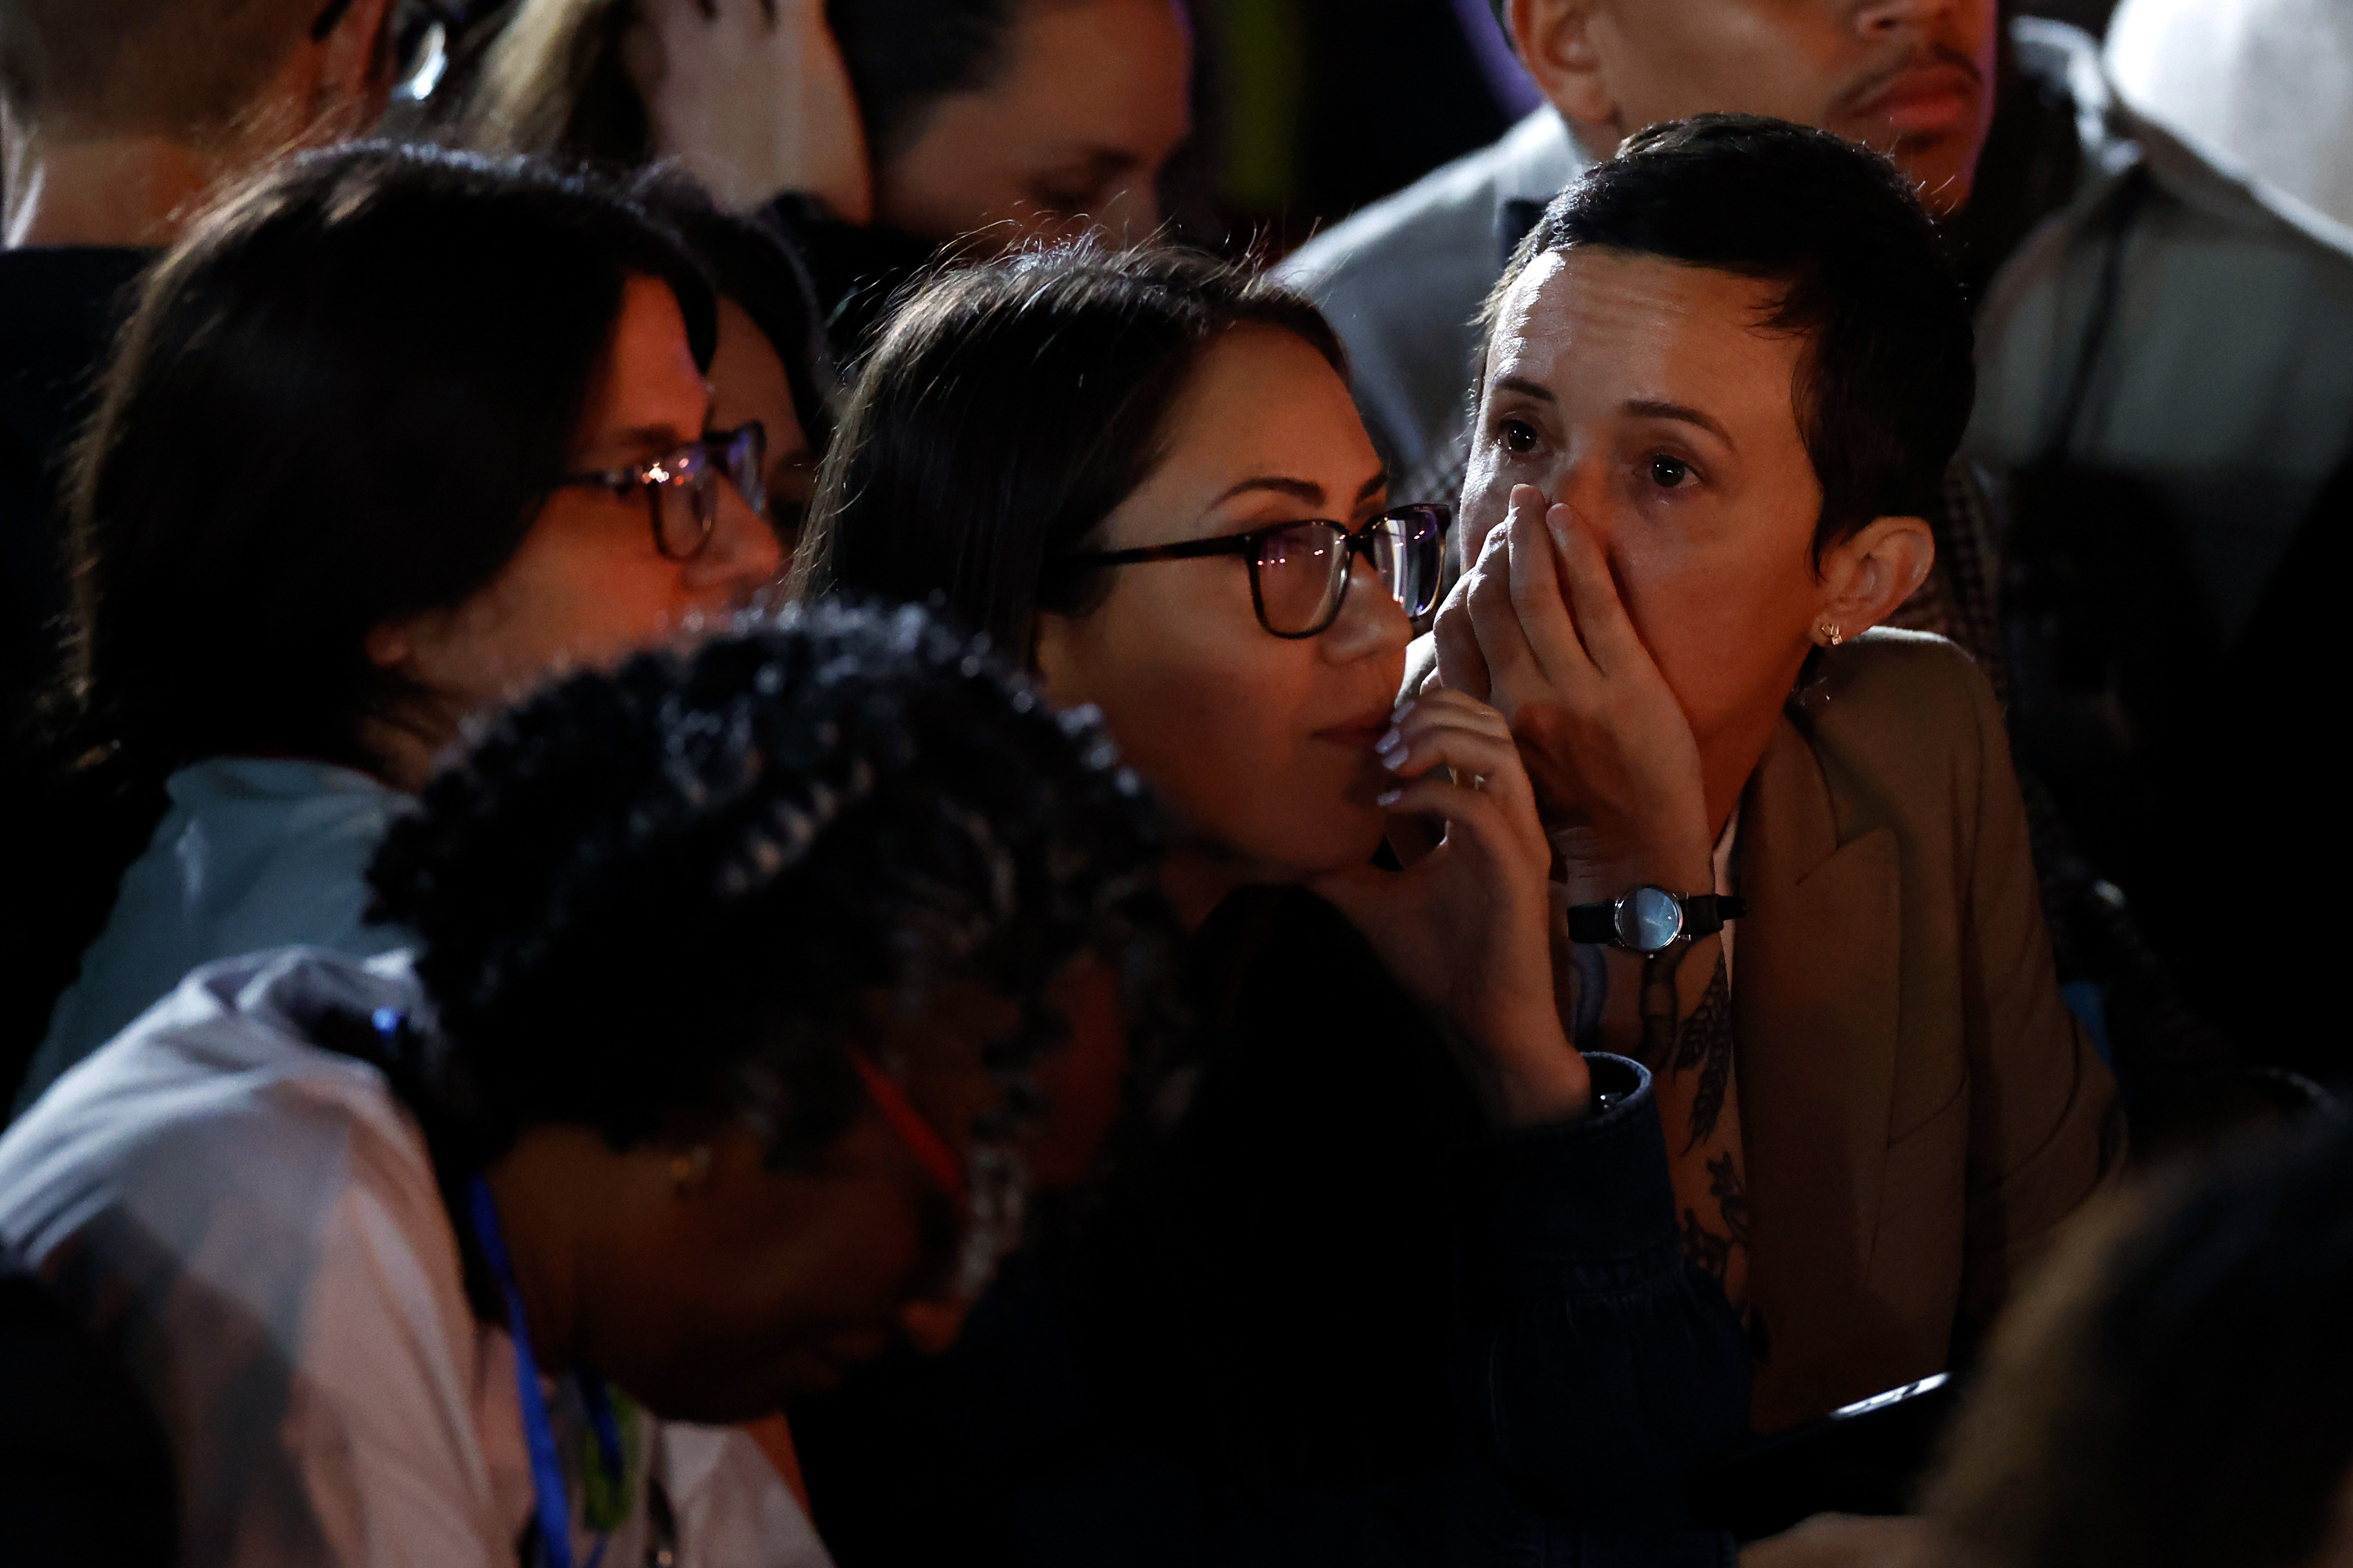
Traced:
<path fill-rule="evenodd" d="M 1993 689 L 1873 630 L 1934 552 L 1967 303 L 1882 158 L 1704 115 L 1546 209 L 1487 322 L 1466 576 L 1417 670 L 1494 703 L 1537 780 L 1577 1039 L 1697 1070 L 1678 1194 L 1739 1204 L 1694 1206 L 1687 1244 L 1748 1269 L 1779 1432 L 1965 1363 L 2120 1157 Z M 1626 609 L 1595 621 L 1577 576 Z M 1657 891 L 1598 853 L 1621 736 L 1685 757 L 1664 891 L 1746 905 L 1720 954 L 1609 919 Z M 1666 987 L 1706 992 L 1704 1027 L 1654 1027 Z"/>

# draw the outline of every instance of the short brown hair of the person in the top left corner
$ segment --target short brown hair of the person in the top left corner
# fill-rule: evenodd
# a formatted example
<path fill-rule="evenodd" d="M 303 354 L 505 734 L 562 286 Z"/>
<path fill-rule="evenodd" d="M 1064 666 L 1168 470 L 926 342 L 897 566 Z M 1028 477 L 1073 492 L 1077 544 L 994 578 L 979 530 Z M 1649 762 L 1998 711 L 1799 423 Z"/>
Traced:
<path fill-rule="evenodd" d="M 49 125 L 200 141 L 259 96 L 322 0 L 0 0 L 0 96 Z"/>

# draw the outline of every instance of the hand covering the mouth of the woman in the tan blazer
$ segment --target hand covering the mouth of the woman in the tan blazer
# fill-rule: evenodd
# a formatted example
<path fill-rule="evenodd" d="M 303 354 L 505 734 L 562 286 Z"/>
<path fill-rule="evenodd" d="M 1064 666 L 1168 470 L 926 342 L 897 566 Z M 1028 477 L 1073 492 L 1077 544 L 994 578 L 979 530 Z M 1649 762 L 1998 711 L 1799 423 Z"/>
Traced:
<path fill-rule="evenodd" d="M 1513 487 L 1435 642 L 1440 682 L 1511 722 L 1572 903 L 1711 886 L 1699 743 L 1572 508 Z"/>

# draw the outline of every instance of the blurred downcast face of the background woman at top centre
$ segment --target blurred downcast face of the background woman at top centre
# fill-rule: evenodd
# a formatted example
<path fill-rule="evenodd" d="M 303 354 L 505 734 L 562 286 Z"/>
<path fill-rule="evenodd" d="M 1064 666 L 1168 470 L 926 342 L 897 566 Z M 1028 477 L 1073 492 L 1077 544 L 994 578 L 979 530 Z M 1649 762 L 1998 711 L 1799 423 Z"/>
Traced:
<path fill-rule="evenodd" d="M 875 169 L 875 216 L 925 240 L 1141 240 L 1193 132 L 1191 78 L 1172 0 L 1021 0 L 995 78 L 941 99 Z"/>

